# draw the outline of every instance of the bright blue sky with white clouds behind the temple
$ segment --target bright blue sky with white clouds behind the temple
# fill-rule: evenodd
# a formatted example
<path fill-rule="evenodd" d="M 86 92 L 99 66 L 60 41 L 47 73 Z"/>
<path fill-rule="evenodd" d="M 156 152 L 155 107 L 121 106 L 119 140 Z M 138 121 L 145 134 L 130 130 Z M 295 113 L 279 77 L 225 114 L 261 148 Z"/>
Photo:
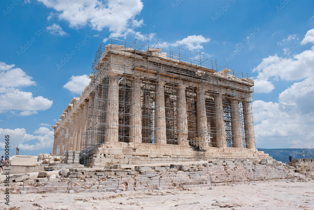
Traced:
<path fill-rule="evenodd" d="M 255 80 L 257 148 L 314 148 L 313 1 L 11 0 L 0 8 L 0 134 L 10 135 L 13 154 L 16 146 L 52 151 L 51 125 L 110 38 L 159 40 L 228 62 Z"/>

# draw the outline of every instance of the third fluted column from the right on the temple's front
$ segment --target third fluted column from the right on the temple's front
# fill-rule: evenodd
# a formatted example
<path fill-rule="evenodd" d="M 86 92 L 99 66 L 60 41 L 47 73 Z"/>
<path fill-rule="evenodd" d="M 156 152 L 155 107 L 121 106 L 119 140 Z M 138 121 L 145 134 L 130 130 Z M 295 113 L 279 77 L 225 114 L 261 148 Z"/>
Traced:
<path fill-rule="evenodd" d="M 222 105 L 222 94 L 215 94 L 215 105 L 216 105 L 216 128 L 215 132 L 217 135 L 218 147 L 227 147 L 226 142 L 226 129 L 224 121 L 224 108 Z"/>

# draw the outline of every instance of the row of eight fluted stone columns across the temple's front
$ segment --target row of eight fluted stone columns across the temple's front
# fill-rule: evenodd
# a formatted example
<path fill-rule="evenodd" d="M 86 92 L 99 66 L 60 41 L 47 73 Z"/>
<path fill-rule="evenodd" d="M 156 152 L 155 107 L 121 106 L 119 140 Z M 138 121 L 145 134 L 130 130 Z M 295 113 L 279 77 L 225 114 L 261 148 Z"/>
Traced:
<path fill-rule="evenodd" d="M 107 94 L 107 116 L 105 141 L 118 141 L 119 128 L 119 76 L 109 78 Z M 130 142 L 142 143 L 142 115 L 141 115 L 141 80 L 135 78 L 131 83 L 132 91 L 130 97 Z M 166 144 L 166 120 L 165 120 L 165 82 L 159 81 L 156 85 L 155 95 L 155 143 Z M 187 102 L 186 86 L 179 85 L 177 91 L 177 142 L 179 145 L 187 145 Z M 196 91 L 197 100 L 197 134 L 198 137 L 208 136 L 208 124 L 205 106 L 205 94 L 202 87 Z M 216 106 L 216 134 L 217 147 L 227 147 L 226 131 L 224 122 L 224 111 L 222 94 L 215 94 Z M 243 120 L 245 130 L 246 148 L 255 148 L 254 130 L 250 102 L 242 102 Z M 238 102 L 231 99 L 231 129 L 233 147 L 243 147 L 240 113 Z M 186 142 L 186 143 L 184 143 Z"/>

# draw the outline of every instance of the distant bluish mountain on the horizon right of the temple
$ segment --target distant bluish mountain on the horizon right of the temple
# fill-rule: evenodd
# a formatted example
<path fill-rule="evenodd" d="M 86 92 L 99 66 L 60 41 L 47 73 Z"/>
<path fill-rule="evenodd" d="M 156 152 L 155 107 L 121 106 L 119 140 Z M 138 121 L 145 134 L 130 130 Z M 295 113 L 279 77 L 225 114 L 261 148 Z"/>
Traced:
<path fill-rule="evenodd" d="M 283 163 L 289 162 L 289 156 L 292 156 L 292 159 L 303 159 L 302 149 L 263 149 L 257 148 L 258 151 L 264 151 L 264 153 L 273 156 L 273 159 L 281 161 Z M 314 149 L 303 149 L 306 159 L 314 159 Z"/>

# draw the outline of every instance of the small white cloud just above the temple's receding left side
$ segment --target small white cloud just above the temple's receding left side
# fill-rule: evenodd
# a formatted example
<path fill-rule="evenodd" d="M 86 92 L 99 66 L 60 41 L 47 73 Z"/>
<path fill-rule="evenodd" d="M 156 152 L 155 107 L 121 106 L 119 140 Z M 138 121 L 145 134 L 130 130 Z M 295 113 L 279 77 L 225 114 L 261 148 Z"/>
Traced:
<path fill-rule="evenodd" d="M 70 81 L 68 81 L 65 85 L 63 85 L 64 88 L 70 90 L 73 93 L 82 93 L 82 91 L 86 88 L 86 86 L 89 84 L 90 79 L 86 74 L 82 76 L 72 76 L 70 78 Z"/>

